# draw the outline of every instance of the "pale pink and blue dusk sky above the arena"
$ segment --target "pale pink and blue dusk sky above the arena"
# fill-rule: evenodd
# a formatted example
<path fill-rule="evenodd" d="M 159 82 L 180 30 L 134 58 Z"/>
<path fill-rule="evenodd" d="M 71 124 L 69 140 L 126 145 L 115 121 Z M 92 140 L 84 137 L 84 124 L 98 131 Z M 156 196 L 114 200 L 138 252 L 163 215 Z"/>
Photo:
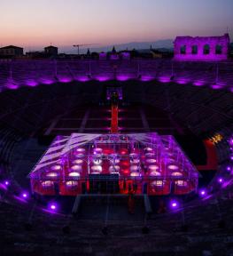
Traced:
<path fill-rule="evenodd" d="M 233 0 L 0 0 L 0 10 L 0 44 L 29 50 L 218 36 L 227 27 L 233 36 Z"/>

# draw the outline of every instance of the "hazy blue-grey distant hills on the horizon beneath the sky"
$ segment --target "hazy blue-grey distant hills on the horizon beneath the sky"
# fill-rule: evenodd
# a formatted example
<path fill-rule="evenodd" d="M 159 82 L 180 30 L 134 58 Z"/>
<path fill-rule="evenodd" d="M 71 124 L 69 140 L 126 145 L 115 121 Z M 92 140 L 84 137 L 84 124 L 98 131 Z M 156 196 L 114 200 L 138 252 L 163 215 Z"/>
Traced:
<path fill-rule="evenodd" d="M 173 39 L 166 39 L 166 40 L 159 40 L 155 42 L 131 42 L 127 44 L 115 44 L 115 49 L 117 51 L 122 50 L 140 50 L 140 49 L 150 49 L 151 46 L 153 49 L 173 49 Z M 113 45 L 106 45 L 104 47 L 90 47 L 91 52 L 109 52 L 112 51 Z M 77 53 L 77 49 L 74 49 L 72 46 L 63 46 L 59 47 L 59 52 L 66 52 L 66 53 Z M 87 52 L 86 48 L 80 49 L 81 53 Z"/>

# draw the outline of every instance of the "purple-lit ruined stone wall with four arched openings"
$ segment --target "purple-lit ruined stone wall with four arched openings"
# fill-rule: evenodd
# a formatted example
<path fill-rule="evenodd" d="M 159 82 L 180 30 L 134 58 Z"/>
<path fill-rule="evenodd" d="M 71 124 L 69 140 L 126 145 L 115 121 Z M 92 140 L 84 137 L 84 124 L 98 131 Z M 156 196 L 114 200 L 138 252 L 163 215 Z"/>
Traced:
<path fill-rule="evenodd" d="M 224 36 L 177 36 L 174 42 L 175 60 L 227 60 L 229 34 Z"/>

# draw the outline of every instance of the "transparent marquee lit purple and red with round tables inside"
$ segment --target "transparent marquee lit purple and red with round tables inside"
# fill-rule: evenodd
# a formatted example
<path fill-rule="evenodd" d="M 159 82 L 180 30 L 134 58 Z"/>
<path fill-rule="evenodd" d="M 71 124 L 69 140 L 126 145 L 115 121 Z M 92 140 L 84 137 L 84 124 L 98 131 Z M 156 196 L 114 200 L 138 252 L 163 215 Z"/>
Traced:
<path fill-rule="evenodd" d="M 29 173 L 32 193 L 185 195 L 198 171 L 171 135 L 73 133 L 58 136 Z"/>

